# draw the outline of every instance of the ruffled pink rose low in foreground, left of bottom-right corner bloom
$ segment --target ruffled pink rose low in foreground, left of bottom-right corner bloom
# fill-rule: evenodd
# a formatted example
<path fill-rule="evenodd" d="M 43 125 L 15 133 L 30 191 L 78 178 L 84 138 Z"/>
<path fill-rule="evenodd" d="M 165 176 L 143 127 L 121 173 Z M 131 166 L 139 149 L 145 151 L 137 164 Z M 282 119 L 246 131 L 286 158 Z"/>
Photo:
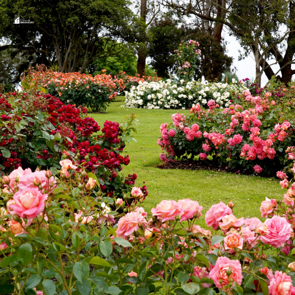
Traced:
<path fill-rule="evenodd" d="M 232 274 L 228 276 L 226 272 L 229 268 L 231 268 Z M 229 284 L 230 279 L 240 285 L 243 279 L 242 267 L 238 260 L 230 260 L 227 257 L 218 257 L 215 266 L 209 272 L 209 276 L 219 289 L 226 287 Z"/>

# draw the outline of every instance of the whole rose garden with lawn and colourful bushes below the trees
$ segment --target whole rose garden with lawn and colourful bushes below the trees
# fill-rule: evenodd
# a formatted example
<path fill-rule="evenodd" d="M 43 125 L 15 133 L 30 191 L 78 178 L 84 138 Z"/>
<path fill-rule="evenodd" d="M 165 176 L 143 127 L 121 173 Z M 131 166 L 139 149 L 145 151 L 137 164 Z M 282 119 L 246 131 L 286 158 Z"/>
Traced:
<path fill-rule="evenodd" d="M 194 80 L 198 47 L 1 90 L 0 294 L 295 294 L 295 83 Z"/>

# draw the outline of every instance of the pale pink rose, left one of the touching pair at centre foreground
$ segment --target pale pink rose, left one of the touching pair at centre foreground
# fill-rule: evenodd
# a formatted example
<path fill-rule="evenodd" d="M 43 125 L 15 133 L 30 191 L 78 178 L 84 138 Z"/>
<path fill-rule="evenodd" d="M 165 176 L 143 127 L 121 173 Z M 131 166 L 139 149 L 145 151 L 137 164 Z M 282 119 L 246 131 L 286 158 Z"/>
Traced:
<path fill-rule="evenodd" d="M 155 208 L 151 209 L 152 216 L 157 216 L 158 220 L 165 222 L 175 220 L 176 216 L 181 216 L 183 211 L 176 201 L 161 201 Z"/>

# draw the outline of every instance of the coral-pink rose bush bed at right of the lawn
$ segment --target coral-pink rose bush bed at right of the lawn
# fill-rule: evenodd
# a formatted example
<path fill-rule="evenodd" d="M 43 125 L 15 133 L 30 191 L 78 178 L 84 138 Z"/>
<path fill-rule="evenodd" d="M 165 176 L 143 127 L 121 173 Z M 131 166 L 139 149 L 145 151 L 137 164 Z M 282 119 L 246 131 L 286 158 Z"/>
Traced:
<path fill-rule="evenodd" d="M 173 124 L 161 125 L 158 145 L 167 152 L 161 160 L 191 156 L 273 175 L 295 159 L 295 121 L 290 106 L 282 109 L 269 102 L 270 95 L 254 97 L 245 90 L 244 107 L 236 104 L 220 111 L 210 100 L 207 111 L 197 104 L 191 116 L 174 114 Z"/>

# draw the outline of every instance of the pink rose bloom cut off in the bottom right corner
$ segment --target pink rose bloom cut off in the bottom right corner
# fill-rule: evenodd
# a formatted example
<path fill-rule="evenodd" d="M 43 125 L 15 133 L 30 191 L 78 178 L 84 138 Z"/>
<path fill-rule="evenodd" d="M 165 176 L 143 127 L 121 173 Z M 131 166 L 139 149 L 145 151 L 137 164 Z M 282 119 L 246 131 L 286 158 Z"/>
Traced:
<path fill-rule="evenodd" d="M 274 277 L 269 281 L 269 295 L 291 295 L 292 279 L 286 272 L 277 271 Z"/>

